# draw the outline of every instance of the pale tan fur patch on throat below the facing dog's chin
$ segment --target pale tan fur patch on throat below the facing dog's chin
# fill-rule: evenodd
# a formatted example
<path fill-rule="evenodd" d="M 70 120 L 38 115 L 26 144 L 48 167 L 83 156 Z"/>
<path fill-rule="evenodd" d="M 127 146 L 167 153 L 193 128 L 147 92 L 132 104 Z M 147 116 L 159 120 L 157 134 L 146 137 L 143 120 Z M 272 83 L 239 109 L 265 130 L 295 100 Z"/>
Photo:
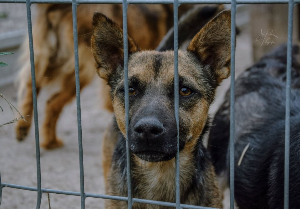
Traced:
<path fill-rule="evenodd" d="M 180 152 L 180 190 L 186 193 L 196 173 L 195 157 L 192 152 Z M 136 170 L 135 182 L 139 198 L 175 202 L 175 158 L 165 162 L 146 162 L 133 156 Z"/>

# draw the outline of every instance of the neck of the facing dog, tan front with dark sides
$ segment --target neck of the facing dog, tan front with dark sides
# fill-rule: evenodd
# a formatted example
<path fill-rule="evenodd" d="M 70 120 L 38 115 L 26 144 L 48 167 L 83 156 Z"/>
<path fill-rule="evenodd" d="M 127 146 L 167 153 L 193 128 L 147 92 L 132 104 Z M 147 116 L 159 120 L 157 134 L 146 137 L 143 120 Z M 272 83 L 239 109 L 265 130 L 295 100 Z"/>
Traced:
<path fill-rule="evenodd" d="M 207 188 L 203 186 L 206 184 L 204 179 L 211 177 L 214 180 L 209 157 L 207 157 L 206 149 L 202 144 L 202 138 L 209 130 L 208 121 L 207 119 L 201 136 L 194 141 L 187 142 L 180 152 L 180 199 L 182 202 L 198 204 L 199 198 L 195 199 L 193 195 L 189 194 L 193 191 L 203 190 L 205 192 L 204 190 Z M 112 166 L 115 167 L 114 169 L 120 170 L 122 175 L 117 175 L 117 178 L 120 179 L 119 186 L 109 194 L 116 195 L 115 191 L 120 189 L 122 195 L 126 196 L 126 145 L 123 136 L 119 139 L 114 151 Z M 147 162 L 131 153 L 133 197 L 175 202 L 175 173 L 175 158 L 163 162 Z"/>

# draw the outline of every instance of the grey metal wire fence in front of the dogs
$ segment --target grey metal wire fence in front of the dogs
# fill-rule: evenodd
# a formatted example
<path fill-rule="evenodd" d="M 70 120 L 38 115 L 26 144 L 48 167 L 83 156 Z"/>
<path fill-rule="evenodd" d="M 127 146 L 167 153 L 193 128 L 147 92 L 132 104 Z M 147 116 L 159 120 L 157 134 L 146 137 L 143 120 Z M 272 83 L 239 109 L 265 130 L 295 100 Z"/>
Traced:
<path fill-rule="evenodd" d="M 132 198 L 131 193 L 131 178 L 130 178 L 130 153 L 128 149 L 128 140 L 126 140 L 126 157 L 127 157 L 127 186 L 128 197 L 117 197 L 110 195 L 94 194 L 84 192 L 84 165 L 82 151 L 82 133 L 81 133 L 81 112 L 80 112 L 80 87 L 79 87 L 79 59 L 78 59 L 78 37 L 77 37 L 77 5 L 79 4 L 123 4 L 123 30 L 124 30 L 124 77 L 125 89 L 128 89 L 128 42 L 127 42 L 127 7 L 129 4 L 174 4 L 174 90 L 178 88 L 178 7 L 180 4 L 231 4 L 231 84 L 230 84 L 230 208 L 234 208 L 234 75 L 235 75 L 235 36 L 236 36 L 236 5 L 237 4 L 267 4 L 267 3 L 288 3 L 288 37 L 287 37 L 287 87 L 286 87 L 286 120 L 285 120 L 285 167 L 284 167 L 284 209 L 288 209 L 289 198 L 289 140 L 290 140 L 290 90 L 291 90 L 291 65 L 292 65 L 292 23 L 293 9 L 295 3 L 300 3 L 300 0 L 0 0 L 0 3 L 26 3 L 27 22 L 29 35 L 29 49 L 31 62 L 31 77 L 32 77 L 32 92 L 33 92 L 33 112 L 34 112 L 34 128 L 36 142 L 36 162 L 37 162 L 37 187 L 26 187 L 22 185 L 2 183 L 0 175 L 0 203 L 3 187 L 11 187 L 37 192 L 37 205 L 40 208 L 41 198 L 43 193 L 56 193 L 64 195 L 80 196 L 81 209 L 84 209 L 85 198 L 103 198 L 111 200 L 119 200 L 128 202 L 128 209 L 132 208 L 135 202 L 154 204 L 160 206 L 175 207 L 176 209 L 191 208 L 191 209 L 209 209 L 211 207 L 192 206 L 180 203 L 180 188 L 179 188 L 179 96 L 175 94 L 175 119 L 177 125 L 177 154 L 176 154 L 176 202 L 161 202 L 153 200 L 145 200 Z M 75 55 L 75 77 L 76 77 L 76 103 L 77 103 L 77 124 L 78 124 L 78 143 L 79 143 L 79 172 L 80 172 L 80 192 L 53 190 L 42 188 L 41 185 L 41 165 L 40 165 L 40 150 L 39 150 L 39 133 L 38 133 L 38 111 L 37 111 L 37 93 L 35 83 L 35 69 L 33 56 L 33 37 L 32 37 L 32 22 L 30 7 L 33 3 L 69 3 L 72 4 L 73 12 L 73 35 L 74 35 L 74 55 Z M 128 133 L 129 125 L 129 94 L 125 91 L 125 121 L 126 134 Z M 128 138 L 128 136 L 127 136 Z M 213 208 L 211 208 L 213 209 Z"/>

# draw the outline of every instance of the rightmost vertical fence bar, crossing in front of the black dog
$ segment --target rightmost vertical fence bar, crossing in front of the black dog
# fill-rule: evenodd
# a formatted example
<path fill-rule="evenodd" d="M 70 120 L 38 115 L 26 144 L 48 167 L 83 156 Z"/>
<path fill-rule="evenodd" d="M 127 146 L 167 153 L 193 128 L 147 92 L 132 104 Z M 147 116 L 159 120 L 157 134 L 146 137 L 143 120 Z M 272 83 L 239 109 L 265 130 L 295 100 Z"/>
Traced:
<path fill-rule="evenodd" d="M 284 148 L 284 209 L 289 203 L 289 168 L 290 168 L 290 95 L 291 95 L 291 67 L 292 67 L 292 32 L 293 32 L 294 1 L 288 2 L 287 27 L 287 85 L 285 103 L 285 148 Z"/>

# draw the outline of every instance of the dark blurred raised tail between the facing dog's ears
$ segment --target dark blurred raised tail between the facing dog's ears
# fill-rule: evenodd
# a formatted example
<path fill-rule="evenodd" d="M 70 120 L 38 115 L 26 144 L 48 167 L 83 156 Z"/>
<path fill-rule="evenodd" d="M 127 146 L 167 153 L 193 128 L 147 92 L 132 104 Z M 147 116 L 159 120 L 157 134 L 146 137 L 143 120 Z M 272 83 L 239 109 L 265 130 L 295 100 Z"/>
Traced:
<path fill-rule="evenodd" d="M 202 6 L 197 5 L 184 14 L 178 21 L 178 44 L 182 46 L 190 41 L 201 28 L 224 9 L 223 5 Z M 157 51 L 174 49 L 174 28 L 172 27 L 162 39 Z"/>

